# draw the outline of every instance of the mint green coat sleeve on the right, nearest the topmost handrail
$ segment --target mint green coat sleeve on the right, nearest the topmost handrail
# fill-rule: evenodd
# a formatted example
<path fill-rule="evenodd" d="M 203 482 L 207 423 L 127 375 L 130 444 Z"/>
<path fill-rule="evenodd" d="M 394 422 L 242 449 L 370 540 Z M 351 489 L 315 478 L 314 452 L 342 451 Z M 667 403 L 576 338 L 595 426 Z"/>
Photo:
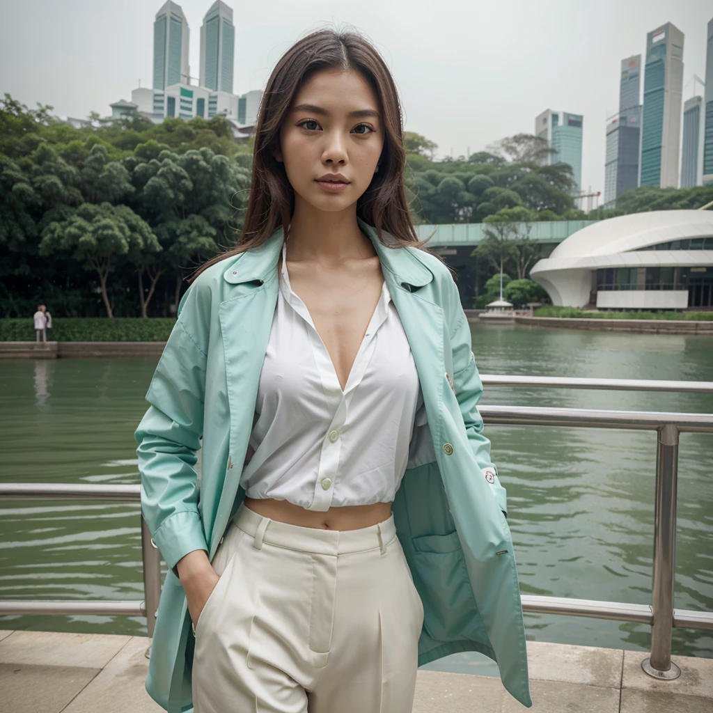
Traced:
<path fill-rule="evenodd" d="M 471 328 L 466 313 L 463 312 L 458 287 L 450 275 L 448 280 L 451 293 L 448 307 L 451 317 L 451 349 L 453 349 L 453 390 L 456 392 L 458 404 L 461 406 L 468 443 L 471 445 L 473 455 L 476 456 L 478 467 L 481 469 L 483 478 L 491 486 L 503 515 L 507 515 L 506 489 L 501 486 L 498 480 L 497 468 L 491 460 L 491 442 L 483 435 L 483 419 L 478 411 L 478 401 L 483 395 L 483 384 L 478 375 L 476 359 L 473 356 Z"/>

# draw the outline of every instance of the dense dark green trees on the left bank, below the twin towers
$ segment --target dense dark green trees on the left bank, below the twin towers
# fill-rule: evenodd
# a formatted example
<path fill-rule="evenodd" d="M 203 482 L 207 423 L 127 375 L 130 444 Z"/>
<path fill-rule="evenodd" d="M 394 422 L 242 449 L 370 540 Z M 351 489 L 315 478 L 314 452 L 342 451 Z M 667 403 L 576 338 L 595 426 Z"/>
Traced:
<path fill-rule="evenodd" d="M 172 316 L 235 243 L 250 142 L 222 117 L 76 129 L 49 109 L 0 100 L 0 316 Z"/>

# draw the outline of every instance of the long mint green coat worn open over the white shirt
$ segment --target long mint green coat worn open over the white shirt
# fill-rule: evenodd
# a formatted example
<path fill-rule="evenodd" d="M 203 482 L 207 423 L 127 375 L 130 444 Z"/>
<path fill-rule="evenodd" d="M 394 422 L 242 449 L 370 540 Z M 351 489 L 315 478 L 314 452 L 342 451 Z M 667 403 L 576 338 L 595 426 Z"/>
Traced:
<path fill-rule="evenodd" d="M 498 662 L 508 692 L 530 707 L 506 491 L 481 470 L 493 464 L 458 289 L 436 257 L 384 247 L 372 227 L 359 225 L 374 243 L 409 339 L 428 419 L 414 434 L 392 506 L 424 603 L 419 665 L 458 651 L 482 652 Z M 282 229 L 202 272 L 181 300 L 148 389 L 150 407 L 135 433 L 141 508 L 169 568 L 196 549 L 212 558 L 245 496 L 241 464 L 277 303 L 281 248 Z M 194 466 L 201 445 L 199 485 Z M 171 713 L 192 709 L 193 644 L 183 587 L 169 569 L 146 689 Z"/>

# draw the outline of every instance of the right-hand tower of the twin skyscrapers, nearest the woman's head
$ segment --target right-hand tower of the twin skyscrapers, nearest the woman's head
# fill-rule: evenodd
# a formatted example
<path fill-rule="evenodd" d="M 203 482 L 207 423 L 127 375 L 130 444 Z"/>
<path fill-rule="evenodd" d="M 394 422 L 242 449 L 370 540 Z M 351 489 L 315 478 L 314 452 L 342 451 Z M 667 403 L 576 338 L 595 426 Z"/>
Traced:
<path fill-rule="evenodd" d="M 200 85 L 232 94 L 235 27 L 232 9 L 217 0 L 200 28 Z"/>

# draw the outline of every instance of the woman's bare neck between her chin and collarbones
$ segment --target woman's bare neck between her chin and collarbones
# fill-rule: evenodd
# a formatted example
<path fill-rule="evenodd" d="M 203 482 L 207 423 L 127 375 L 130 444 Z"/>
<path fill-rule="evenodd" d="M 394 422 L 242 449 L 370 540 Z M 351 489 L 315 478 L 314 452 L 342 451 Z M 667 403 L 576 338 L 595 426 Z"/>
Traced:
<path fill-rule="evenodd" d="M 376 251 L 356 222 L 356 203 L 347 210 L 326 212 L 296 197 L 287 254 L 290 262 L 314 260 L 329 264 L 372 257 Z"/>

